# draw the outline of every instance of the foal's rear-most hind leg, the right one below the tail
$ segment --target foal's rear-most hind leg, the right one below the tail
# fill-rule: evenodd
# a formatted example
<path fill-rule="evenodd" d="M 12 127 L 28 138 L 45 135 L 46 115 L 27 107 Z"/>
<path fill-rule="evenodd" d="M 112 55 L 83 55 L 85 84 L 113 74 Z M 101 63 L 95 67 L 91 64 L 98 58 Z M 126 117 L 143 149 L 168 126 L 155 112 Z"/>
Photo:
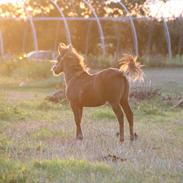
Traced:
<path fill-rule="evenodd" d="M 129 123 L 130 140 L 134 140 L 137 138 L 137 134 L 133 132 L 133 112 L 129 105 L 128 99 L 121 100 L 121 106 L 126 114 L 126 117 L 127 117 L 128 123 Z"/>

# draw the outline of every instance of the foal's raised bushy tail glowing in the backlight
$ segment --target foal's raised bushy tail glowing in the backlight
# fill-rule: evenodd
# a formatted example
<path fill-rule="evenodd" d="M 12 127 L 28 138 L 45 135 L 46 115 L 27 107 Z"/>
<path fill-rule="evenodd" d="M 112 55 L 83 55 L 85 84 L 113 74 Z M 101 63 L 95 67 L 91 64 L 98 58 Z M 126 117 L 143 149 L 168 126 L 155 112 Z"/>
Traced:
<path fill-rule="evenodd" d="M 137 57 L 125 54 L 119 60 L 120 70 L 125 72 L 133 81 L 143 81 L 144 72 L 142 71 L 142 66 L 137 62 Z"/>

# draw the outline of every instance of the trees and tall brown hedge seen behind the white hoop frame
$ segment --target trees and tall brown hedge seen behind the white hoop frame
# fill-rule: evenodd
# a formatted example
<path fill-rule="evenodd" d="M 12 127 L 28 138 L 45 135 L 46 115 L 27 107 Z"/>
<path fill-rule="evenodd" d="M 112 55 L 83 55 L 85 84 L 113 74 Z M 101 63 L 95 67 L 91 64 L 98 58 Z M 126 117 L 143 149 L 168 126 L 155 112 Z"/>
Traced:
<path fill-rule="evenodd" d="M 90 1 L 98 16 L 125 16 L 118 3 L 107 4 L 106 1 Z M 137 18 L 137 15 L 148 16 L 148 10 L 143 6 L 145 0 L 125 0 L 124 3 L 133 15 L 138 34 L 140 55 L 167 54 L 167 44 L 163 23 L 153 18 Z M 92 17 L 92 12 L 80 0 L 58 1 L 66 17 Z M 59 17 L 59 13 L 49 0 L 30 0 L 26 4 L 27 14 L 34 17 Z M 0 6 L 1 16 L 24 17 L 21 6 L 4 4 Z M 0 30 L 4 37 L 6 53 L 29 52 L 34 49 L 32 30 L 25 20 L 1 19 Z M 101 21 L 105 34 L 106 50 L 109 54 L 133 53 L 133 35 L 129 21 Z M 66 42 L 64 24 L 62 21 L 36 21 L 39 49 L 56 49 L 59 42 Z M 100 54 L 101 45 L 98 27 L 95 21 L 69 21 L 73 45 L 82 53 Z M 176 18 L 168 21 L 174 55 L 183 52 L 183 21 Z M 54 36 L 53 36 L 54 35 Z M 13 44 L 12 44 L 13 41 Z"/>

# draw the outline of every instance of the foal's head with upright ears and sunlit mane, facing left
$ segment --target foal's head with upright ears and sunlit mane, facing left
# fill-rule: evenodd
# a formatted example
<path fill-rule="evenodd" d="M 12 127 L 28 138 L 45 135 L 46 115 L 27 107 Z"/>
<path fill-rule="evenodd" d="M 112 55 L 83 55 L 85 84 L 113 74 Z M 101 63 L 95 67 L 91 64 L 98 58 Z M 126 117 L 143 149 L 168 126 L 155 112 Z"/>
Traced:
<path fill-rule="evenodd" d="M 72 69 L 71 71 L 86 70 L 83 57 L 72 47 L 72 45 L 65 45 L 64 43 L 58 46 L 58 57 L 52 71 L 58 75 L 64 70 Z"/>

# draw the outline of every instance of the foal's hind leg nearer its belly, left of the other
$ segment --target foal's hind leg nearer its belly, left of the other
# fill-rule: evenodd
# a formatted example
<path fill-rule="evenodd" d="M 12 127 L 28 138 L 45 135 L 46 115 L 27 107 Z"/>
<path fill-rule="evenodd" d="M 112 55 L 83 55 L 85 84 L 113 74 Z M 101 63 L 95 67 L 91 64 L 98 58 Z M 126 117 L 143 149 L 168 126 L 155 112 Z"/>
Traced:
<path fill-rule="evenodd" d="M 111 103 L 112 109 L 119 122 L 120 142 L 124 142 L 124 116 L 121 106 L 118 103 Z"/>

